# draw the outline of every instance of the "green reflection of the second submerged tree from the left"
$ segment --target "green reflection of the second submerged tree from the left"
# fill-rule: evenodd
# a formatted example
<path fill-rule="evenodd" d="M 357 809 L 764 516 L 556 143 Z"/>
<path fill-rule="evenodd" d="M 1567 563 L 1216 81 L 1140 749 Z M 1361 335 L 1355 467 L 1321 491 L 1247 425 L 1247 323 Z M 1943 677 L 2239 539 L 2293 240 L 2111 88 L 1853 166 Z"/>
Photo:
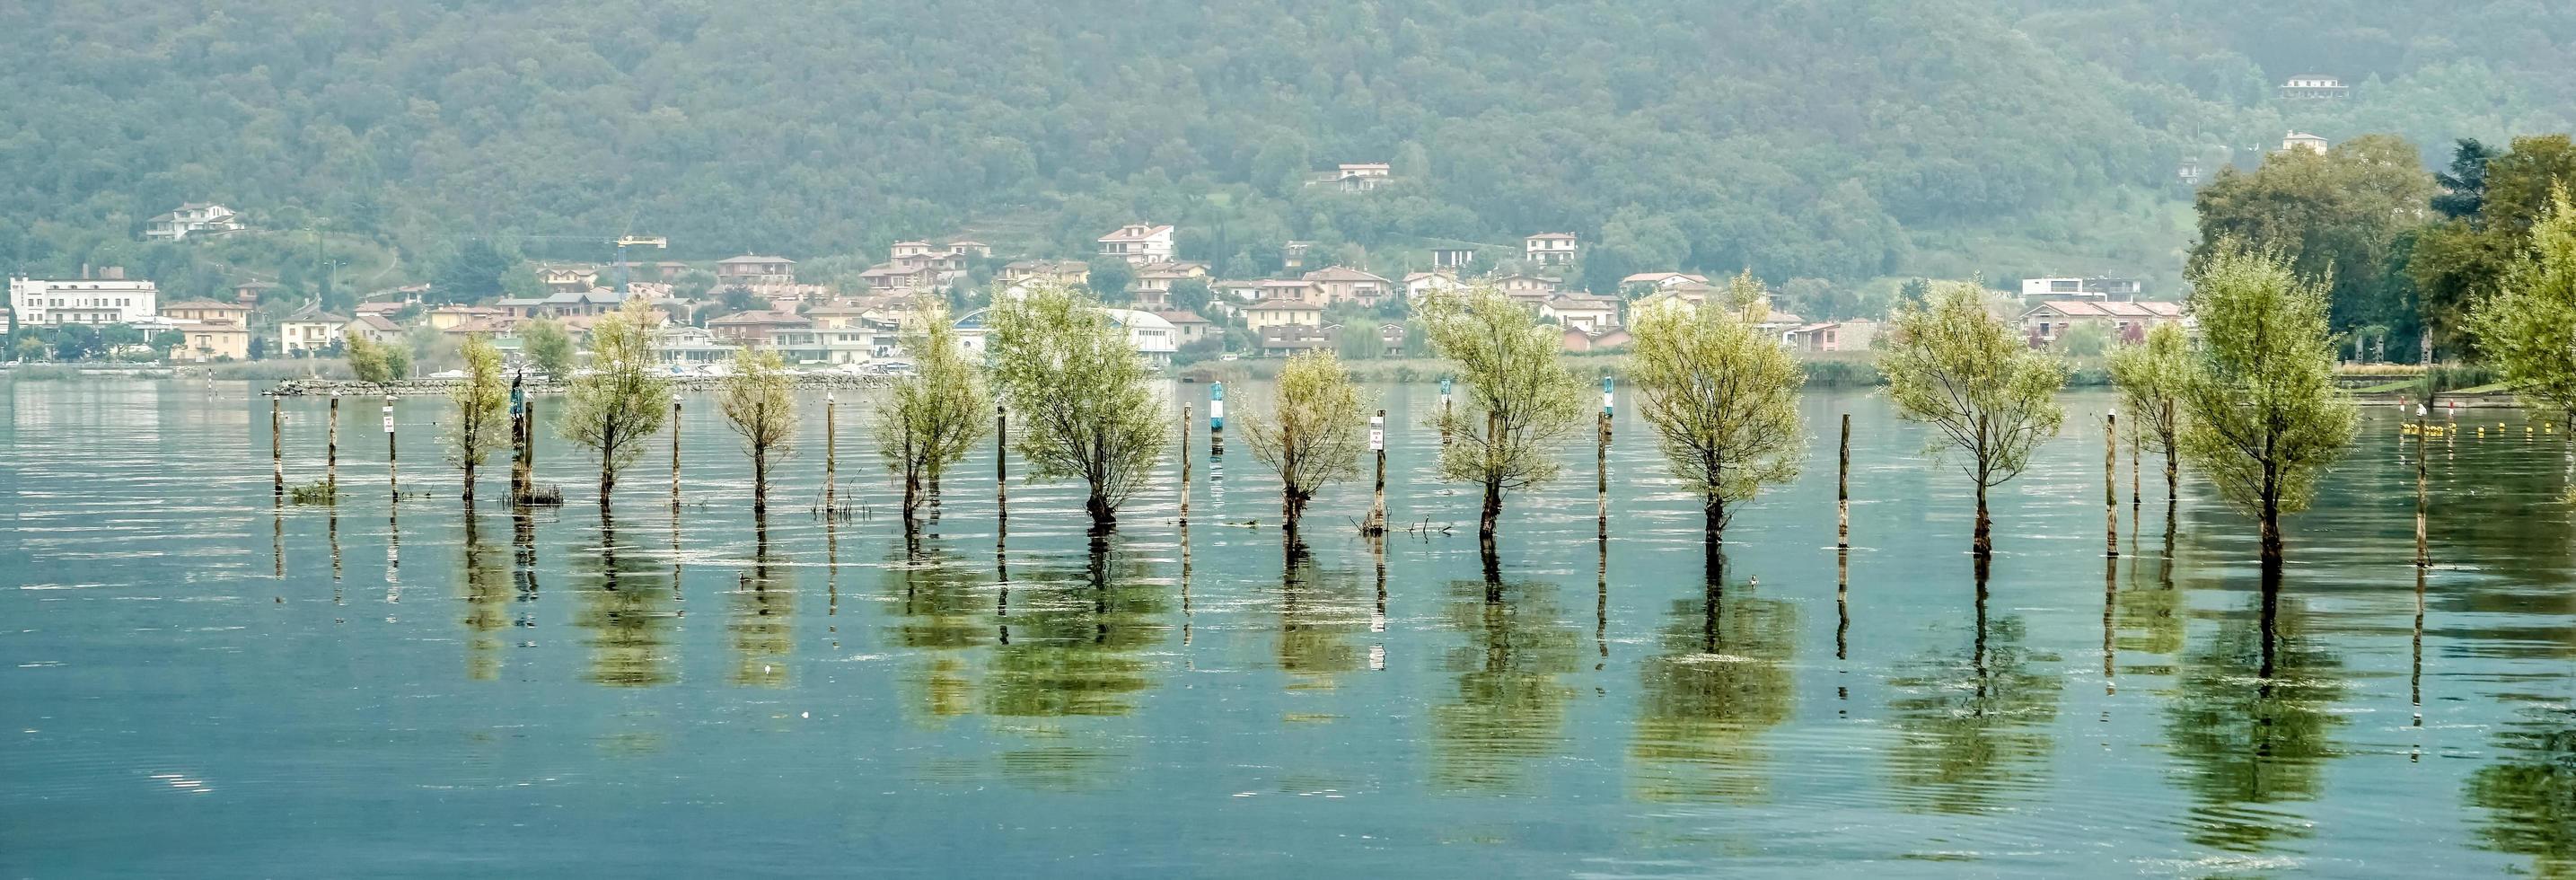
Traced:
<path fill-rule="evenodd" d="M 616 520 L 600 509 L 600 545 L 574 551 L 574 592 L 580 612 L 574 625 L 590 630 L 590 682 L 611 687 L 670 684 L 667 669 L 670 620 L 680 612 L 670 607 L 670 571 L 652 566 L 652 558 L 618 545 Z"/>

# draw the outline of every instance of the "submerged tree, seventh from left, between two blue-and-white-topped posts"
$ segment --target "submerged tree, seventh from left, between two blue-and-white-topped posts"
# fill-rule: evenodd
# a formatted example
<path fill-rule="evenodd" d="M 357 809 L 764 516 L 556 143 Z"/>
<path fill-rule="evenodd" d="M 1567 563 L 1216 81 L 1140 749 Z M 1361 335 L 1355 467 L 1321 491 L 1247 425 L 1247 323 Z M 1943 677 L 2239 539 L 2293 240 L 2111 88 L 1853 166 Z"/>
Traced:
<path fill-rule="evenodd" d="M 1556 479 L 1556 448 L 1584 427 L 1584 381 L 1556 360 L 1558 332 L 1502 291 L 1435 296 L 1422 324 L 1466 383 L 1466 401 L 1430 419 L 1455 437 L 1440 479 L 1484 486 L 1476 538 L 1494 538 L 1504 491 Z"/>

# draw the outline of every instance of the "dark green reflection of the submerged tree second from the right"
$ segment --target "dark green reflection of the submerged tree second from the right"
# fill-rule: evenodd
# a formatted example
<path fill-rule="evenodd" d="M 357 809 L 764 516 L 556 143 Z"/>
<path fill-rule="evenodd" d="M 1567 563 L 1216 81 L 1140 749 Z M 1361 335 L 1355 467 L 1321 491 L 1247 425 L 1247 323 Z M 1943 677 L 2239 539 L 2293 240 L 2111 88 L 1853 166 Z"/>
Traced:
<path fill-rule="evenodd" d="M 2164 741 L 2195 800 L 2190 839 L 2269 852 L 2311 834 L 2280 805 L 2324 793 L 2344 682 L 2342 661 L 2308 633 L 2306 602 L 2264 589 L 2249 605 L 2184 654 Z"/>

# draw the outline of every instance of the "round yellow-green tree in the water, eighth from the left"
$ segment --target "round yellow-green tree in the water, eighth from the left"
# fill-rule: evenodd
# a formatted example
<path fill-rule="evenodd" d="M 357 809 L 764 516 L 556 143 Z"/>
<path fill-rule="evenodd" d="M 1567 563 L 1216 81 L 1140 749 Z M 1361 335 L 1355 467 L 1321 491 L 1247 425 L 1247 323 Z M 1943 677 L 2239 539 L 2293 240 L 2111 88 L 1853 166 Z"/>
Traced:
<path fill-rule="evenodd" d="M 1798 430 L 1806 371 L 1757 327 L 1770 314 L 1762 283 L 1747 273 L 1726 291 L 1723 304 L 1643 309 L 1628 360 L 1638 414 L 1672 476 L 1700 494 L 1710 545 L 1726 535 L 1728 504 L 1798 479 L 1806 455 Z"/>

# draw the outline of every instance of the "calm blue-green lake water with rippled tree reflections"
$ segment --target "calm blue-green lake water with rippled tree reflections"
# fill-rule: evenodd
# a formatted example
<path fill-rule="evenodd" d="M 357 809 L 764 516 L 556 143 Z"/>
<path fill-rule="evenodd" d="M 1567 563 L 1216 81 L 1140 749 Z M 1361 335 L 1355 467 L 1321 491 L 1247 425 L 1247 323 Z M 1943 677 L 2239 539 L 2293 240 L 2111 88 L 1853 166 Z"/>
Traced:
<path fill-rule="evenodd" d="M 1705 589 L 1695 499 L 1623 407 L 1607 545 L 1589 437 L 1507 504 L 1427 479 L 1425 386 L 1391 419 L 1383 553 L 1368 484 L 1327 489 L 1311 556 L 1278 484 L 1193 430 L 1170 481 L 1087 553 L 1072 486 L 948 479 L 896 538 L 868 427 L 827 525 L 817 437 L 765 538 L 747 466 L 690 399 L 603 522 L 466 512 L 440 401 L 345 401 L 343 502 L 273 507 L 245 383 L 23 381 L 0 525 L 0 872 L 265 875 L 2496 875 L 2576 865 L 2576 525 L 2566 437 L 2476 414 L 2432 448 L 2437 569 L 2416 579 L 2396 409 L 2290 522 L 2264 628 L 2254 530 L 2159 466 L 2105 561 L 2107 396 L 1996 497 L 1927 435 L 1816 394 L 1806 476 L 1728 530 Z M 1200 404 L 1206 386 L 1175 386 Z M 1234 389 L 1242 409 L 1252 389 Z M 551 412 L 554 401 L 544 404 Z M 289 399 L 289 479 L 322 476 Z M 1855 422 L 1837 600 L 1834 453 Z M 1015 463 L 1018 468 L 1018 463 Z M 1257 522 L 1257 525 L 1244 525 Z M 1437 525 L 1453 525 L 1440 533 Z M 2172 538 L 2166 538 L 2172 535 Z"/>

